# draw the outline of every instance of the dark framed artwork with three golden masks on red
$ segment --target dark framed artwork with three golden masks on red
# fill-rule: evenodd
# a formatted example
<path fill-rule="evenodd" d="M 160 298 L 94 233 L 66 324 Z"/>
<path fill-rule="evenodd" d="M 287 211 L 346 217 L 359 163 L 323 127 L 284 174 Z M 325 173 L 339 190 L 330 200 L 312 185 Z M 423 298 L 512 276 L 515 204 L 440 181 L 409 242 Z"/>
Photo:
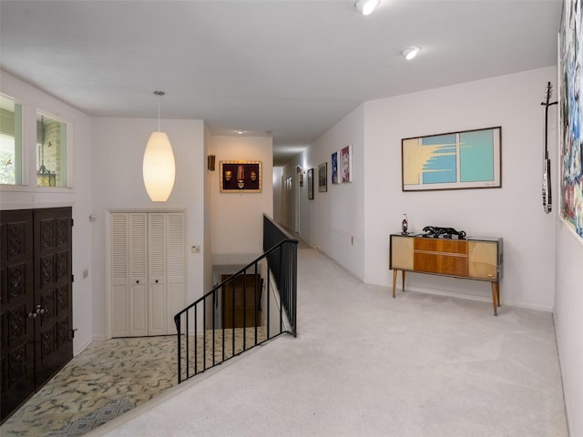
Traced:
<path fill-rule="evenodd" d="M 220 161 L 221 193 L 261 193 L 261 161 Z"/>

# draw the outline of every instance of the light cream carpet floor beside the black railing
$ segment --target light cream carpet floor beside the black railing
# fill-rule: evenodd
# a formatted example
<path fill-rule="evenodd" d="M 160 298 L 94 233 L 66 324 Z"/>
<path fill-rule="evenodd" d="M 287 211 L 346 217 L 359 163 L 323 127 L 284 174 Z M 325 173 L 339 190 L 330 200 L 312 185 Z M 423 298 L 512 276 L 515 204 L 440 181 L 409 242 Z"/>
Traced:
<path fill-rule="evenodd" d="M 298 337 L 284 336 L 90 435 L 562 437 L 552 315 L 391 298 L 299 250 Z M 504 298 L 503 298 L 504 299 Z"/>

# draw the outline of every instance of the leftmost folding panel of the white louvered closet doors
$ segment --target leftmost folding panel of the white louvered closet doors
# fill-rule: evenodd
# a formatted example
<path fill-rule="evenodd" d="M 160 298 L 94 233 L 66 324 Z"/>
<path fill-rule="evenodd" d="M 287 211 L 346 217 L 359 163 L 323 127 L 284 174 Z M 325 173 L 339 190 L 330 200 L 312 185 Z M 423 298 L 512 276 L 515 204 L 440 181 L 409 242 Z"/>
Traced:
<path fill-rule="evenodd" d="M 111 214 L 111 335 L 129 335 L 128 214 Z"/>

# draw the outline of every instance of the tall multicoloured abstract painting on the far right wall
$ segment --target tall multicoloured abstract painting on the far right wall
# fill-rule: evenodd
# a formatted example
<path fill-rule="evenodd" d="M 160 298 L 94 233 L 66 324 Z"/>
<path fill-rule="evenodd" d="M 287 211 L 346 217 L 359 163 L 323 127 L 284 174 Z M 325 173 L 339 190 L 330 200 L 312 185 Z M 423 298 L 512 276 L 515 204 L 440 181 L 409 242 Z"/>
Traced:
<path fill-rule="evenodd" d="M 565 0 L 559 32 L 560 215 L 583 239 L 583 114 L 581 0 Z"/>

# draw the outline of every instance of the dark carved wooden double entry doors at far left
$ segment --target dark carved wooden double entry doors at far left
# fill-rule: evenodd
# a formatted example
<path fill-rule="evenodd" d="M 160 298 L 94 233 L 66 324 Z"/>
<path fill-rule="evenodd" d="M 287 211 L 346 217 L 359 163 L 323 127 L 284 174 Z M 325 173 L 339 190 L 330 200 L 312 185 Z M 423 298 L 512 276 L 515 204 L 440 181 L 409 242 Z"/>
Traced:
<path fill-rule="evenodd" d="M 0 211 L 2 422 L 73 358 L 71 208 Z"/>

